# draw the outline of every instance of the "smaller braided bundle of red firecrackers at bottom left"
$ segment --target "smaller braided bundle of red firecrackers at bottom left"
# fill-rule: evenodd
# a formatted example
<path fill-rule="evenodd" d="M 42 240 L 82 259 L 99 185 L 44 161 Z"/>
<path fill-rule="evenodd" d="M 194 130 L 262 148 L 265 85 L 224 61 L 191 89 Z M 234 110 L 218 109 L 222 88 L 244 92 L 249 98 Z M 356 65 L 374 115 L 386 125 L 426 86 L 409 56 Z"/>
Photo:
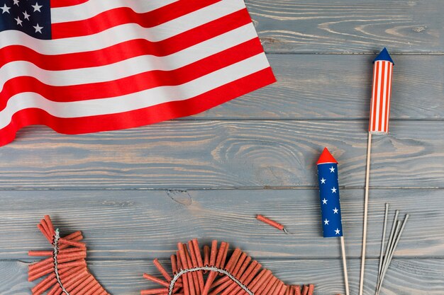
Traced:
<path fill-rule="evenodd" d="M 83 239 L 82 232 L 76 231 L 62 238 L 48 215 L 37 227 L 53 249 L 28 253 L 30 256 L 48 257 L 29 265 L 29 282 L 47 276 L 31 289 L 33 295 L 40 295 L 45 291 L 48 291 L 48 295 L 108 294 L 87 268 L 87 247 L 80 242 Z"/>

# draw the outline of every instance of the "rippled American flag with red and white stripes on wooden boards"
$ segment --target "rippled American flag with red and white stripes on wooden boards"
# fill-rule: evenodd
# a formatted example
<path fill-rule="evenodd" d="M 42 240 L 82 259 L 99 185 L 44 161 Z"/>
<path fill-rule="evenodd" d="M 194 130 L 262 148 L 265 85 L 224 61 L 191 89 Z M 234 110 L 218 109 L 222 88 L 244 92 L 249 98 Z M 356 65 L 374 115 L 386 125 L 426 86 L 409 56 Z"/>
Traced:
<path fill-rule="evenodd" d="M 0 146 L 202 112 L 275 81 L 243 0 L 0 0 Z"/>

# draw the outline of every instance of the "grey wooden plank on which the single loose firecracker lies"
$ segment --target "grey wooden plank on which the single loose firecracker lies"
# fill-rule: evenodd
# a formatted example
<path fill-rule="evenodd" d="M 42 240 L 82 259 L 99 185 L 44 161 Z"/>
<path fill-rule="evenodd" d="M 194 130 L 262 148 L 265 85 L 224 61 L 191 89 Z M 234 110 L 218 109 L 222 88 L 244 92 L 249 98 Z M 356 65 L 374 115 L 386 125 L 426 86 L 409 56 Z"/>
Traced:
<path fill-rule="evenodd" d="M 177 241 L 216 238 L 256 258 L 339 258 L 322 238 L 318 190 L 4 191 L 0 259 L 25 259 L 48 242 L 36 228 L 50 214 L 62 233 L 82 230 L 89 258 L 168 258 Z M 363 190 L 341 190 L 347 253 L 359 258 Z M 367 257 L 379 257 L 384 203 L 411 217 L 396 257 L 444 257 L 443 190 L 371 190 Z M 286 235 L 255 219 L 281 222 Z M 391 222 L 391 221 L 390 221 Z M 391 223 L 390 223 L 391 224 Z"/>

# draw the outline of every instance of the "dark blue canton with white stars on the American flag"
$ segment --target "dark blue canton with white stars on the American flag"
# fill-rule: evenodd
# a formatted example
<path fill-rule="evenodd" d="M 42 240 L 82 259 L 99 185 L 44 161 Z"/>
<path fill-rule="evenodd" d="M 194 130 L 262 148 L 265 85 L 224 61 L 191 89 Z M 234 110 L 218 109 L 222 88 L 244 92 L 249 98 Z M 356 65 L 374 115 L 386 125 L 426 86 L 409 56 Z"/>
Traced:
<path fill-rule="evenodd" d="M 3 30 L 51 39 L 50 0 L 0 0 L 0 32 Z"/>

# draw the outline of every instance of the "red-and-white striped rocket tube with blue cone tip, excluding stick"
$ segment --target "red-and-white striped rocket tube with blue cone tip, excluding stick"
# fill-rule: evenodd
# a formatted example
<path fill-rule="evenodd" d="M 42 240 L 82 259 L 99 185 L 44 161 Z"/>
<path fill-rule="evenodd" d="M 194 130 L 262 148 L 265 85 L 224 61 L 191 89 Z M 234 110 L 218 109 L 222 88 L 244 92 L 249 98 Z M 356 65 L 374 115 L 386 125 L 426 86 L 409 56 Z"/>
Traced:
<path fill-rule="evenodd" d="M 389 132 L 393 65 L 392 57 L 390 57 L 386 48 L 374 59 L 373 91 L 369 124 L 369 132 L 372 134 Z"/>

